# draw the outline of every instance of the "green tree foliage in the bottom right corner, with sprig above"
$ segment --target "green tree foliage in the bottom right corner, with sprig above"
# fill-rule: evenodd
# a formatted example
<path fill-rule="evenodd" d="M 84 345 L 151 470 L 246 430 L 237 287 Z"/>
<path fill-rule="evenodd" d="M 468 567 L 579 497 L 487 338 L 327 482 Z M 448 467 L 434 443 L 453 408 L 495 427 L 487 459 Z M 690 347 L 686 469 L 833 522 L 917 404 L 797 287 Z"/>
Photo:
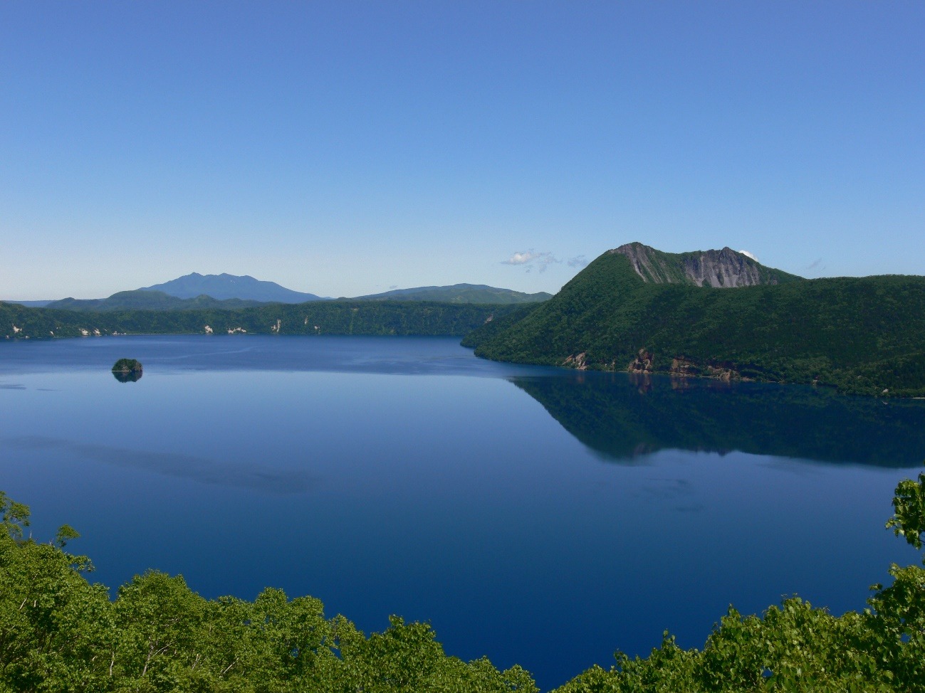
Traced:
<path fill-rule="evenodd" d="M 887 527 L 920 549 L 925 474 L 901 481 L 893 505 Z M 703 650 L 681 650 L 666 632 L 647 659 L 617 652 L 610 671 L 589 669 L 558 693 L 925 691 L 925 569 L 892 565 L 890 575 L 861 614 L 833 616 L 798 598 L 761 617 L 730 607 Z"/>

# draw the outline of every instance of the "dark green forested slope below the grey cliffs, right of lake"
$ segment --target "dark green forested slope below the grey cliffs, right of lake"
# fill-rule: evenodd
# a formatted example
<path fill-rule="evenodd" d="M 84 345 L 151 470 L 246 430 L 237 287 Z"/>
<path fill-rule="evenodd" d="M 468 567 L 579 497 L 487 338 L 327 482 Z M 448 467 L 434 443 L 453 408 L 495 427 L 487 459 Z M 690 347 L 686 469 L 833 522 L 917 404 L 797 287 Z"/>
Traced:
<path fill-rule="evenodd" d="M 466 343 L 488 359 L 925 395 L 925 277 L 654 284 L 606 252 L 519 321 Z"/>

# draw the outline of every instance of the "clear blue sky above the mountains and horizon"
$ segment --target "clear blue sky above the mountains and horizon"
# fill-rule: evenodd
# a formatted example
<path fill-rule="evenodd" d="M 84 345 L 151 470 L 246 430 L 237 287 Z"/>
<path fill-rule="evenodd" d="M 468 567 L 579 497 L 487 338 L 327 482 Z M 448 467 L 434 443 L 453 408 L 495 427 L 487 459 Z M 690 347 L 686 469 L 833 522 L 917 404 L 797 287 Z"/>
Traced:
<path fill-rule="evenodd" d="M 555 292 L 632 240 L 925 274 L 923 33 L 922 2 L 7 0 L 0 298 Z"/>

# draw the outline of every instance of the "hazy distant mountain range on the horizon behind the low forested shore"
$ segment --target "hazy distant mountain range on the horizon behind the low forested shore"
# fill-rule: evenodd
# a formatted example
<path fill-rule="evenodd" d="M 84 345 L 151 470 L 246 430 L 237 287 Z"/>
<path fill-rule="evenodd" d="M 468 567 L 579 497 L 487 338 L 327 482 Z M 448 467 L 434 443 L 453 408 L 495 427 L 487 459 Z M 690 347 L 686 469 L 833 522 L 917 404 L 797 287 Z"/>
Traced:
<path fill-rule="evenodd" d="M 524 294 L 512 289 L 484 284 L 453 286 L 418 286 L 395 289 L 382 294 L 339 300 L 433 301 L 438 303 L 512 304 L 534 303 L 552 298 L 539 292 Z M 60 310 L 194 310 L 236 309 L 266 303 L 307 303 L 331 300 L 314 294 L 293 291 L 276 282 L 235 274 L 186 274 L 164 284 L 144 286 L 133 291 L 119 291 L 108 298 L 62 298 L 43 301 L 8 301 L 31 308 Z"/>

